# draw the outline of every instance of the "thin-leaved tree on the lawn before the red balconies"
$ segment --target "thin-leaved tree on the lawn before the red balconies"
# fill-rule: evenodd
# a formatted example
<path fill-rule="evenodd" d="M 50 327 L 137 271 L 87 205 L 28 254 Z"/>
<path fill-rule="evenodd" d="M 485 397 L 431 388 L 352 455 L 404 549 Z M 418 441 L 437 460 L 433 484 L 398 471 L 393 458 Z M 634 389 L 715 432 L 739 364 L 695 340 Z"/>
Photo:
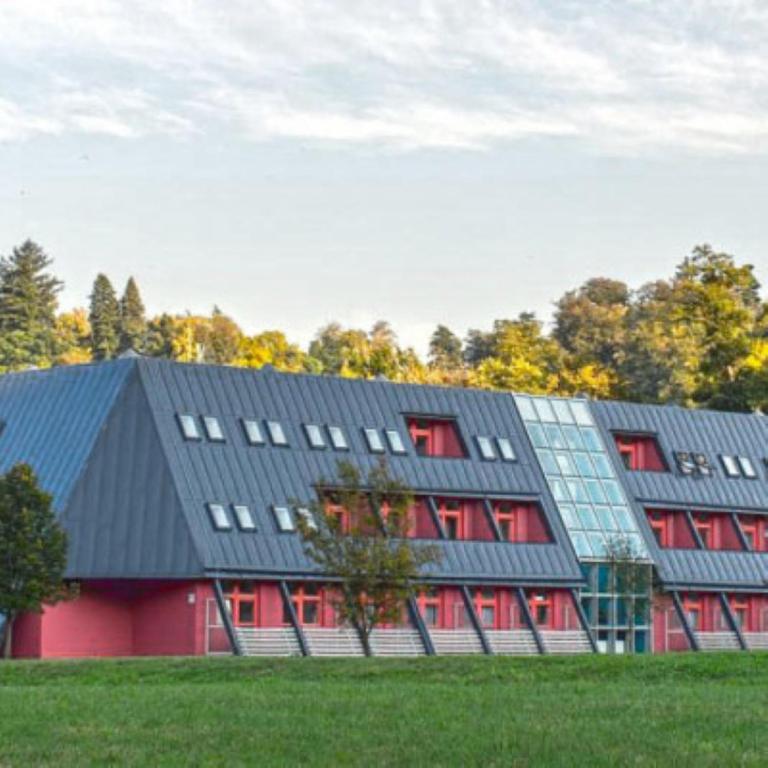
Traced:
<path fill-rule="evenodd" d="M 300 517 L 299 530 L 309 557 L 337 580 L 331 600 L 339 619 L 357 630 L 370 656 L 373 630 L 402 620 L 422 568 L 438 562 L 440 553 L 407 538 L 413 496 L 386 464 L 374 467 L 365 481 L 350 463 L 340 462 L 337 471 L 330 485 L 344 519 L 313 501 L 302 505 L 309 516 Z M 321 480 L 319 486 L 329 484 Z"/>

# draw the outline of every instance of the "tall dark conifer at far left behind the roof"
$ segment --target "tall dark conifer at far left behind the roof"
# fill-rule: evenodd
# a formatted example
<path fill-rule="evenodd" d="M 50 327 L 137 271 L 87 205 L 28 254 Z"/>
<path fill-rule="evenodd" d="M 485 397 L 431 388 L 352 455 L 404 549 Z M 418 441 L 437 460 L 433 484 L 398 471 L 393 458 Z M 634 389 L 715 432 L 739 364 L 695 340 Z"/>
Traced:
<path fill-rule="evenodd" d="M 0 259 L 0 369 L 45 367 L 57 352 L 56 307 L 62 282 L 51 259 L 26 240 Z"/>

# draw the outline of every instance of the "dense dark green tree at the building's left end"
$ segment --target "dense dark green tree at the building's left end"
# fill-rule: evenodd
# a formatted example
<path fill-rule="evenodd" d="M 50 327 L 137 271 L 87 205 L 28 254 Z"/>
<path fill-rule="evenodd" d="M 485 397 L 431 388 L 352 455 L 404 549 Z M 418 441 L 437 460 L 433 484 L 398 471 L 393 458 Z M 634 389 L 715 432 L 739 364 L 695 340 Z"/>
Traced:
<path fill-rule="evenodd" d="M 5 616 L 4 654 L 14 620 L 73 596 L 63 582 L 67 537 L 37 484 L 32 468 L 17 464 L 0 478 L 0 614 Z"/>

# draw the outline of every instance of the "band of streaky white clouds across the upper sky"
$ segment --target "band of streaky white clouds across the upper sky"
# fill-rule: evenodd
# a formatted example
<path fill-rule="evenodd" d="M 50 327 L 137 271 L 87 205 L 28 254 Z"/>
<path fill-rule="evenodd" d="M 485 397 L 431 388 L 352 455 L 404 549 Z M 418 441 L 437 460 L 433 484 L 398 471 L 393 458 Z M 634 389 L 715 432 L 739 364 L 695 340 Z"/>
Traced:
<path fill-rule="evenodd" d="M 754 0 L 5 0 L 0 139 L 768 150 Z"/>

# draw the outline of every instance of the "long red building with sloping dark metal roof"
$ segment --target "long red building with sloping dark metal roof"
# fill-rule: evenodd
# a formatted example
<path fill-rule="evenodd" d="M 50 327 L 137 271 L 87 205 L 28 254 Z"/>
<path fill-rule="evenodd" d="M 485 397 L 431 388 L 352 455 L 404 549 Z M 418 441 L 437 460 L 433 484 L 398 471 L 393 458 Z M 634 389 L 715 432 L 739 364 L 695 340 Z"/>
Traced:
<path fill-rule="evenodd" d="M 16 656 L 360 654 L 296 515 L 381 457 L 443 557 L 375 654 L 768 647 L 760 415 L 134 357 L 0 377 L 0 420 L 80 585 Z M 654 594 L 614 578 L 616 540 Z"/>

